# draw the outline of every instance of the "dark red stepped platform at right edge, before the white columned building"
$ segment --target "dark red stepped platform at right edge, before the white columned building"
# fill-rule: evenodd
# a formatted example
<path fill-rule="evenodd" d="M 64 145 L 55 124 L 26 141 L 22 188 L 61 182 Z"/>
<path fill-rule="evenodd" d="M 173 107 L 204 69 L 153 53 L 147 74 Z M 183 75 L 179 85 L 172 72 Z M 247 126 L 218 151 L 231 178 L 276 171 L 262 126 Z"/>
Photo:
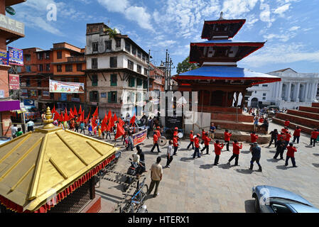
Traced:
<path fill-rule="evenodd" d="M 278 113 L 273 118 L 274 123 L 284 125 L 286 119 L 290 121 L 289 128 L 301 128 L 304 133 L 310 134 L 313 128 L 319 128 L 319 103 L 313 103 L 311 107 L 300 106 L 298 110 L 289 109 L 287 113 Z"/>

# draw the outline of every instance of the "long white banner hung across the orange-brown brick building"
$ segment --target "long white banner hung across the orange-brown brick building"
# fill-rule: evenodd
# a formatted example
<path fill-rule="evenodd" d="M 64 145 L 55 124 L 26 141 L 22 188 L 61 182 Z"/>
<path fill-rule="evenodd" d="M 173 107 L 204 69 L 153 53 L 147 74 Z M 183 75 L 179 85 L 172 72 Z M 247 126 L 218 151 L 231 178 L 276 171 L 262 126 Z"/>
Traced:
<path fill-rule="evenodd" d="M 84 93 L 84 83 L 61 82 L 50 79 L 50 92 L 82 94 Z"/>

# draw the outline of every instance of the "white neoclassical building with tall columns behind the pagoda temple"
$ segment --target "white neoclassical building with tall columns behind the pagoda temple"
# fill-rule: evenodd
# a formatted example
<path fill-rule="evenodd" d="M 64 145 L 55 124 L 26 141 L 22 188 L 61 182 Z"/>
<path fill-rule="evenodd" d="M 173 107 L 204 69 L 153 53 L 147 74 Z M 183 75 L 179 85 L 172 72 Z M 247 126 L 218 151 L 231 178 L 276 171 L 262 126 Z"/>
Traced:
<path fill-rule="evenodd" d="M 318 101 L 318 73 L 299 73 L 291 68 L 268 72 L 281 77 L 281 82 L 259 84 L 247 89 L 248 106 L 257 104 L 276 105 L 280 108 L 296 109 L 298 106 L 311 106 Z"/>

